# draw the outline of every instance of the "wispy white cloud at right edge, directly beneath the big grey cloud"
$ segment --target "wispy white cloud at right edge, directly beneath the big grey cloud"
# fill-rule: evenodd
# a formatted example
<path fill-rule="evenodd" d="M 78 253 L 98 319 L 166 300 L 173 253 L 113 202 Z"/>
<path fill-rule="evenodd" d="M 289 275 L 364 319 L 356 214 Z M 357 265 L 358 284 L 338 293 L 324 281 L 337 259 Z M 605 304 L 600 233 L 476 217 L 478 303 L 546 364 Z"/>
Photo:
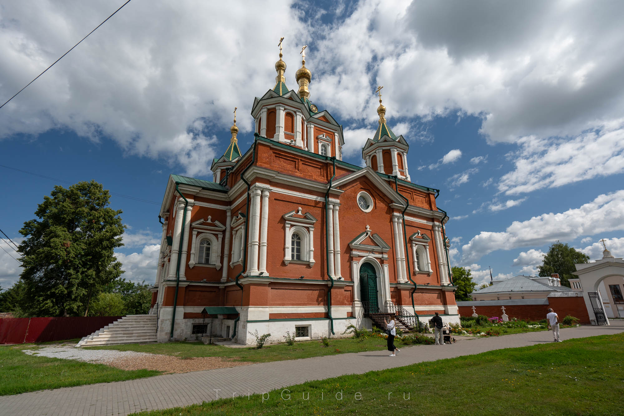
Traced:
<path fill-rule="evenodd" d="M 498 184 L 507 195 L 624 172 L 624 119 L 572 139 L 528 136 L 518 143 L 520 150 L 510 154 L 514 170 Z"/>

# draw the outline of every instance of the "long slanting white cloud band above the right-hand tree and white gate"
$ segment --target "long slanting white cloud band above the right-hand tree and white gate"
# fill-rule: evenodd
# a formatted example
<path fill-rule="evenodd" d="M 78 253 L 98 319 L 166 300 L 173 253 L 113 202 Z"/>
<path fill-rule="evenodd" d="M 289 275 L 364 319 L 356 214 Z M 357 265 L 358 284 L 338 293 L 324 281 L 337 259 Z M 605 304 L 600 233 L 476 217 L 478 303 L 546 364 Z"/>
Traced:
<path fill-rule="evenodd" d="M 482 231 L 462 246 L 462 263 L 474 262 L 495 250 L 540 246 L 580 235 L 624 230 L 624 191 L 596 197 L 592 202 L 558 214 L 514 221 L 503 232 Z"/>

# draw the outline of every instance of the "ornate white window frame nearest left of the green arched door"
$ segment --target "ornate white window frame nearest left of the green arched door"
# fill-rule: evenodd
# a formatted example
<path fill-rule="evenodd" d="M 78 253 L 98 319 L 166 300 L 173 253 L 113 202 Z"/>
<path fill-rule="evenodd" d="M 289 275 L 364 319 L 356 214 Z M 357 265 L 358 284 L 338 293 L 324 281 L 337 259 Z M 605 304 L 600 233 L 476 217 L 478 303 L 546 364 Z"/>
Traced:
<path fill-rule="evenodd" d="M 295 215 L 301 215 L 304 218 L 296 217 Z M 287 214 L 283 215 L 286 220 L 285 234 L 284 234 L 284 263 L 286 265 L 290 263 L 308 264 L 312 267 L 314 261 L 314 223 L 316 218 L 309 212 L 306 214 L 301 213 L 301 207 Z M 297 233 L 301 237 L 301 260 L 292 259 L 292 238 L 293 234 Z"/>

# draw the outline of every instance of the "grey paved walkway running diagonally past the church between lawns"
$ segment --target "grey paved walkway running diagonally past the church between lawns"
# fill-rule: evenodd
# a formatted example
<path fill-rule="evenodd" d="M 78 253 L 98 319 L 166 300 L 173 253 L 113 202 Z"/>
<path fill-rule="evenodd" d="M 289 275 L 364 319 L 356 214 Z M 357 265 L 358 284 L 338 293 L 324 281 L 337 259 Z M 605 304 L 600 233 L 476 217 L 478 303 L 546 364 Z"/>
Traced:
<path fill-rule="evenodd" d="M 563 340 L 624 332 L 624 322 L 612 320 L 609 327 L 579 327 L 561 330 Z M 300 360 L 243 365 L 227 369 L 185 374 L 159 375 L 147 379 L 100 383 L 0 397 L 1 415 L 127 415 L 141 410 L 187 406 L 218 397 L 261 394 L 309 380 L 344 374 L 363 374 L 422 361 L 479 354 L 510 347 L 552 342 L 552 332 L 527 332 L 456 344 L 419 345 L 402 349 L 396 357 L 386 351 L 339 354 Z"/>

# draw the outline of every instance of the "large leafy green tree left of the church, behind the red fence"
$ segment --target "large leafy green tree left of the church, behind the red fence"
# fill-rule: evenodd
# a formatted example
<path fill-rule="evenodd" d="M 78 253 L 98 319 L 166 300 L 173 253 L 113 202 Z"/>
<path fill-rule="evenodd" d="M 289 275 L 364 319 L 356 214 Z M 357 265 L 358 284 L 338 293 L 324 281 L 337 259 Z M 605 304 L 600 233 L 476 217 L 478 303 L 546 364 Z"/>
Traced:
<path fill-rule="evenodd" d="M 125 225 L 95 182 L 55 186 L 19 232 L 24 285 L 20 306 L 29 316 L 87 315 L 104 286 L 123 272 L 114 249 Z"/>

